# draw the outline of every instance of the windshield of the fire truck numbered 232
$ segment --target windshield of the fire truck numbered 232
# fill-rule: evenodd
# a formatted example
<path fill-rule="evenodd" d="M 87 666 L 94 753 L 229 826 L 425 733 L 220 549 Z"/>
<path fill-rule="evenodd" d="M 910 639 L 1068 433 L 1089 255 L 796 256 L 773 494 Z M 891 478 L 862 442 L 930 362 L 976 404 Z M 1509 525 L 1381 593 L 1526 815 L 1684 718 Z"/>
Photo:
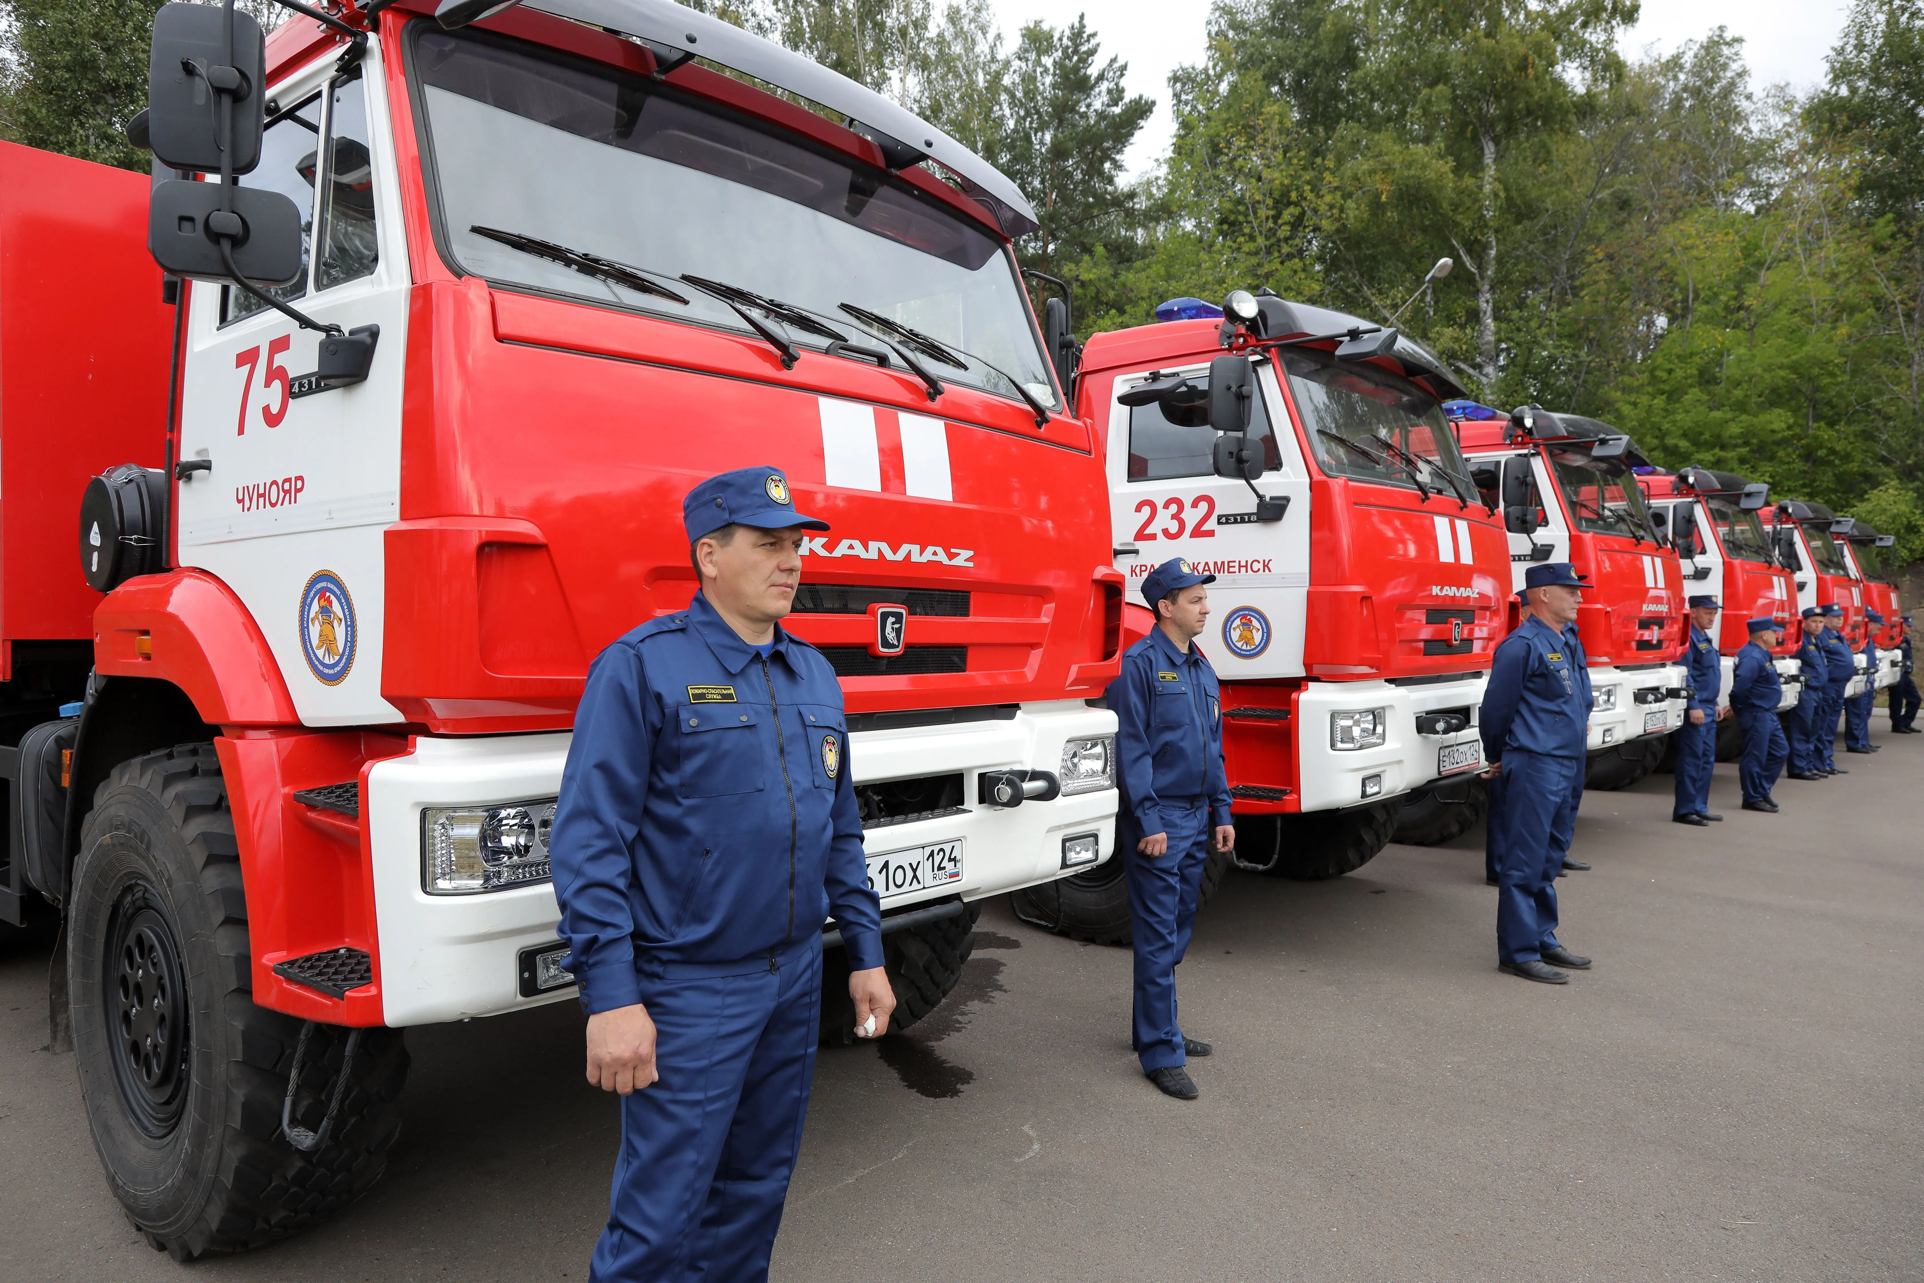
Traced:
<path fill-rule="evenodd" d="M 1474 494 L 1435 396 L 1387 369 L 1337 362 L 1314 348 L 1278 348 L 1278 354 L 1303 433 L 1326 473 Z M 1456 491 L 1445 471 L 1456 479 Z"/>

